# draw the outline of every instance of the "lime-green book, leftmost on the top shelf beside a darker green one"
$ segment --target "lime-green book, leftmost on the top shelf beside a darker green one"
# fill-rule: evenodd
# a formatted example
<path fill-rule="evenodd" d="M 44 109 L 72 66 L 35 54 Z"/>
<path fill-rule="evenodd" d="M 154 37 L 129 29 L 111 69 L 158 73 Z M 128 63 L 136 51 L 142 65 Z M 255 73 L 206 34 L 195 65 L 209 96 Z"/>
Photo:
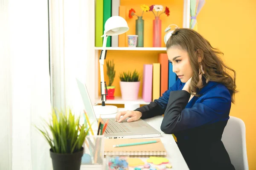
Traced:
<path fill-rule="evenodd" d="M 103 43 L 103 0 L 96 0 L 95 7 L 95 46 L 102 47 Z"/>

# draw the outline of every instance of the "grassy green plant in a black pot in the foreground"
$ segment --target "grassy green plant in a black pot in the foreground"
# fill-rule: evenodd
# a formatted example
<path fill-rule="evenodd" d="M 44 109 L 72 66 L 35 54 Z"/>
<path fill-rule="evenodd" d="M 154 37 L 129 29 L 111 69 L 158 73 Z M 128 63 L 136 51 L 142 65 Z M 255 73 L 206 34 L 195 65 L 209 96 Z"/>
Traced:
<path fill-rule="evenodd" d="M 88 134 L 87 122 L 79 125 L 70 109 L 66 113 L 52 110 L 52 119 L 45 121 L 46 127 L 35 126 L 50 146 L 53 170 L 80 170 L 82 147 Z"/>

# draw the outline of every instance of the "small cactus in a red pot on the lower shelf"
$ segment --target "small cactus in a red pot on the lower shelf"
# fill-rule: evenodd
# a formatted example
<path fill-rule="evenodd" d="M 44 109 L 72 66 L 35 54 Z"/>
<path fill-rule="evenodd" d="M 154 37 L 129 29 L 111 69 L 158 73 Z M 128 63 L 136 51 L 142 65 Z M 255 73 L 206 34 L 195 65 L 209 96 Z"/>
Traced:
<path fill-rule="evenodd" d="M 116 71 L 115 71 L 115 64 L 114 61 L 107 61 L 107 75 L 108 75 L 108 86 L 107 86 L 107 91 L 108 95 L 106 95 L 106 99 L 114 99 L 114 93 L 115 93 L 115 86 L 112 86 L 112 83 L 114 81 L 114 78 L 116 76 Z"/>

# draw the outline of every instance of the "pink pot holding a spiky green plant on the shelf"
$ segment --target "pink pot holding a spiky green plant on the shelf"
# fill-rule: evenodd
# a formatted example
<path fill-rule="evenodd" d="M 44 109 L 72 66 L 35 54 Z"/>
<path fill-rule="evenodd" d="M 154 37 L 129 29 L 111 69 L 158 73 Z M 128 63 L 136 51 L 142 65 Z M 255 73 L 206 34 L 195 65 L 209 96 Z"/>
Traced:
<path fill-rule="evenodd" d="M 137 100 L 140 90 L 140 82 L 120 82 L 123 100 Z"/>

